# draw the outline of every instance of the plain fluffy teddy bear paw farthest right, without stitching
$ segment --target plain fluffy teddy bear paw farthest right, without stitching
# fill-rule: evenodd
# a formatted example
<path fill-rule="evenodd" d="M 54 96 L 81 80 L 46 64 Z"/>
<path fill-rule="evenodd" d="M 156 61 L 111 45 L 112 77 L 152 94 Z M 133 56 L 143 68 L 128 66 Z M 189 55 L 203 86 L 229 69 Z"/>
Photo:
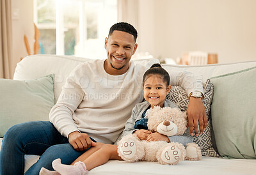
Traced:
<path fill-rule="evenodd" d="M 198 144 L 189 143 L 186 145 L 186 157 L 185 160 L 200 160 L 202 158 L 202 152 Z"/>

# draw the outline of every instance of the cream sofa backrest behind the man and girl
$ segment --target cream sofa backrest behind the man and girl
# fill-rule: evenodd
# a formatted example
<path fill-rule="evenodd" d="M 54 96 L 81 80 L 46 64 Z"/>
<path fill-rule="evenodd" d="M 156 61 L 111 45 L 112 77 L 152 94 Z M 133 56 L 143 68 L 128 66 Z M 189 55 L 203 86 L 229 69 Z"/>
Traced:
<path fill-rule="evenodd" d="M 61 92 L 61 87 L 65 84 L 69 73 L 79 64 L 85 61 L 93 61 L 93 59 L 86 59 L 76 56 L 56 56 L 56 55 L 32 55 L 22 59 L 15 68 L 13 79 L 15 80 L 29 80 L 38 79 L 46 75 L 55 74 L 54 79 L 54 93 L 55 99 Z M 159 63 L 158 59 L 135 59 L 134 63 L 147 65 Z M 210 77 L 223 75 L 225 73 L 237 72 L 246 68 L 256 66 L 256 61 L 229 63 L 229 64 L 214 64 L 204 66 L 184 66 L 184 65 L 163 65 L 169 73 L 172 71 L 189 71 L 196 75 L 202 76 L 203 82 Z M 142 75 L 141 75 L 142 76 Z"/>

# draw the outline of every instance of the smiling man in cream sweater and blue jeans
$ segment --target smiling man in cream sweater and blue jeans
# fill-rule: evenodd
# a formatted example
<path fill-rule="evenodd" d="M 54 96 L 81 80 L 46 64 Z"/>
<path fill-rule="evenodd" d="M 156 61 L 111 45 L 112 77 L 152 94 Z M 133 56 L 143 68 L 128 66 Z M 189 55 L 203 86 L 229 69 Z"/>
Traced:
<path fill-rule="evenodd" d="M 131 24 L 114 24 L 105 39 L 108 59 L 83 63 L 70 73 L 49 114 L 51 122 L 22 123 L 6 132 L 0 174 L 22 174 L 25 154 L 41 155 L 26 172 L 38 174 L 42 167 L 52 170 L 51 162 L 56 158 L 71 164 L 94 142 L 116 142 L 132 108 L 143 100 L 142 75 L 153 64 L 148 61 L 142 66 L 131 61 L 138 47 L 136 38 Z M 202 133 L 207 123 L 204 105 L 197 98 L 203 93 L 202 80 L 188 72 L 173 75 L 179 77 L 174 84 L 186 84 L 183 88 L 195 93 L 189 98 L 189 128 L 193 133 L 193 124 L 199 123 Z M 198 135 L 198 127 L 195 133 Z"/>

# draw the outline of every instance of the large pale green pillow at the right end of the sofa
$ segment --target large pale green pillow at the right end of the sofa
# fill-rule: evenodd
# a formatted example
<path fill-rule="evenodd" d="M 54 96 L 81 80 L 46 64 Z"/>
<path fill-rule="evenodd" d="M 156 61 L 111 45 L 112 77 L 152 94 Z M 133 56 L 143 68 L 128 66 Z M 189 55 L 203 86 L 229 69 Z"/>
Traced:
<path fill-rule="evenodd" d="M 212 127 L 225 158 L 256 158 L 256 67 L 211 78 Z"/>

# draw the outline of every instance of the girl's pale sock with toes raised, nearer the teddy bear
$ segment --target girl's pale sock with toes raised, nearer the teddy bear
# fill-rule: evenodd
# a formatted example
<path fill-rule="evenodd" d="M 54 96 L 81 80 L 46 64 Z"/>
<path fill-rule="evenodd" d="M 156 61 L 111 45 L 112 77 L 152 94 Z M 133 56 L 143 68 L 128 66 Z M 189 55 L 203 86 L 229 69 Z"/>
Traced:
<path fill-rule="evenodd" d="M 84 175 L 88 172 L 83 162 L 76 162 L 75 165 L 64 165 L 61 164 L 60 158 L 52 161 L 52 167 L 61 175 Z"/>

